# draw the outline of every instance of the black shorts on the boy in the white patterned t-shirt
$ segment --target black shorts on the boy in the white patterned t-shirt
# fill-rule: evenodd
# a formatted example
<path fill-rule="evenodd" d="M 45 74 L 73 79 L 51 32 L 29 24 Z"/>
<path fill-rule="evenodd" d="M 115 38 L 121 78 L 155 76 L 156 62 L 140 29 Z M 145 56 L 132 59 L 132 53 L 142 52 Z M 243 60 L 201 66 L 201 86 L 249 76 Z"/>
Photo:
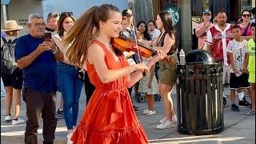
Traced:
<path fill-rule="evenodd" d="M 234 73 L 230 73 L 230 90 L 238 90 L 239 88 L 250 88 L 250 83 L 248 82 L 249 74 L 242 74 L 237 77 Z"/>

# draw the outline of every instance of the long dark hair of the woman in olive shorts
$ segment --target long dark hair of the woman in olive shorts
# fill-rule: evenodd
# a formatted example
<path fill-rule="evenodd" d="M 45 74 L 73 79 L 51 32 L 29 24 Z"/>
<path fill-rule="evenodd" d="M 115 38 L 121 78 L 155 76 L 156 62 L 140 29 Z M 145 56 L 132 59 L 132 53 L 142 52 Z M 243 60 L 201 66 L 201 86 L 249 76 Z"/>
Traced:
<path fill-rule="evenodd" d="M 174 53 L 175 50 L 178 48 L 178 34 L 177 31 L 174 29 L 173 20 L 171 18 L 171 14 L 165 11 L 162 11 L 159 13 L 159 17 L 162 20 L 162 26 L 166 30 L 166 32 L 170 35 L 170 38 L 172 38 L 172 34 L 174 34 L 174 45 L 171 46 L 170 51 L 168 52 L 168 55 L 171 53 Z"/>

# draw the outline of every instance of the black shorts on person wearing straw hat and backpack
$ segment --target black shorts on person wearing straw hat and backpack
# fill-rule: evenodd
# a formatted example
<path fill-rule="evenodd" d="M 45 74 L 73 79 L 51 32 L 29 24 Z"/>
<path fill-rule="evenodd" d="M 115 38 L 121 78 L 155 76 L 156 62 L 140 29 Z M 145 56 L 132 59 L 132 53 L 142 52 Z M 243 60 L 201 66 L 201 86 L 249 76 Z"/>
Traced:
<path fill-rule="evenodd" d="M 12 86 L 16 90 L 22 90 L 23 76 L 22 70 L 15 69 L 13 74 L 1 73 L 3 86 Z"/>

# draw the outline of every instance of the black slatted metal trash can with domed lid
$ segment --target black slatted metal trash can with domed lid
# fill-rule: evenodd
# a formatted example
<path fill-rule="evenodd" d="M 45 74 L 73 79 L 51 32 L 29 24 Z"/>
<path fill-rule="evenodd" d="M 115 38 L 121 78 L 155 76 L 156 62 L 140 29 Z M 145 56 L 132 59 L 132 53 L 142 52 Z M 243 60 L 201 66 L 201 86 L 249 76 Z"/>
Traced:
<path fill-rule="evenodd" d="M 186 54 L 177 65 L 177 110 L 180 134 L 217 134 L 223 128 L 222 64 L 206 50 Z"/>

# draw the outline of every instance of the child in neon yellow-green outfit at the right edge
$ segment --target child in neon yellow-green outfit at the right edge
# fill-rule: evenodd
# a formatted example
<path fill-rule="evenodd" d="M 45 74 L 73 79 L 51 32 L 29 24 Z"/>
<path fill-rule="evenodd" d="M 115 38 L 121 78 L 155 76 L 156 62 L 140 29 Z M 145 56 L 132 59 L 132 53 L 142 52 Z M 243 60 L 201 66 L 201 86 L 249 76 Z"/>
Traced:
<path fill-rule="evenodd" d="M 249 61 L 248 61 L 248 71 L 251 90 L 250 90 L 250 101 L 251 108 L 246 111 L 246 115 L 255 114 L 255 23 L 251 24 L 251 32 L 253 38 L 250 38 L 248 41 L 248 50 L 249 50 Z"/>

